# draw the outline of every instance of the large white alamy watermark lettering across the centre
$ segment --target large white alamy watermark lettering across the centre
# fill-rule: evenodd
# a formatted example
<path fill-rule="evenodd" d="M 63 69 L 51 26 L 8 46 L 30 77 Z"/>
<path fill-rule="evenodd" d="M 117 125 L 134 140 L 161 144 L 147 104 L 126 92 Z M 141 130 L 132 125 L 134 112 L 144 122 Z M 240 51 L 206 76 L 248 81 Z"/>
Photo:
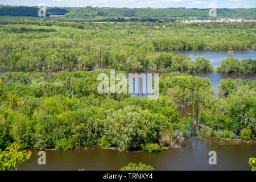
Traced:
<path fill-rule="evenodd" d="M 142 93 L 147 94 L 148 99 L 155 100 L 159 96 L 158 73 L 154 73 L 154 89 L 152 85 L 152 78 L 152 73 L 129 73 L 127 79 L 127 76 L 124 73 L 118 73 L 115 76 L 115 69 L 110 69 L 110 84 L 108 74 L 100 73 L 98 75 L 97 80 L 101 81 L 98 84 L 98 93 Z M 127 89 L 127 81 L 129 81 L 129 89 Z"/>

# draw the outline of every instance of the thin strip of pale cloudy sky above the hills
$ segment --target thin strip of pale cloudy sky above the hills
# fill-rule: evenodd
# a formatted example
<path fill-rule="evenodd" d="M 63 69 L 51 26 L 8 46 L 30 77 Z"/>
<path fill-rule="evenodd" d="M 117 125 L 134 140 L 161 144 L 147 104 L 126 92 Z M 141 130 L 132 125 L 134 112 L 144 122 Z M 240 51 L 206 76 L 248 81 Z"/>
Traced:
<path fill-rule="evenodd" d="M 256 0 L 0 0 L 0 5 L 38 6 L 44 3 L 48 7 L 186 7 L 186 8 L 250 8 L 256 7 Z"/>

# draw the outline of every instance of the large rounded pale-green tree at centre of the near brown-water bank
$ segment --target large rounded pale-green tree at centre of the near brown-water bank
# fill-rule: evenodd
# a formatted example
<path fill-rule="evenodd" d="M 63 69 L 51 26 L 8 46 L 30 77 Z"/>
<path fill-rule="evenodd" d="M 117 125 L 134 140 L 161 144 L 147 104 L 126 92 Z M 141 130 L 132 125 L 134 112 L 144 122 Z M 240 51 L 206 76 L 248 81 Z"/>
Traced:
<path fill-rule="evenodd" d="M 113 146 L 121 150 L 141 148 L 142 143 L 154 143 L 158 139 L 159 117 L 148 110 L 126 106 L 124 109 L 106 111 L 105 133 Z"/>

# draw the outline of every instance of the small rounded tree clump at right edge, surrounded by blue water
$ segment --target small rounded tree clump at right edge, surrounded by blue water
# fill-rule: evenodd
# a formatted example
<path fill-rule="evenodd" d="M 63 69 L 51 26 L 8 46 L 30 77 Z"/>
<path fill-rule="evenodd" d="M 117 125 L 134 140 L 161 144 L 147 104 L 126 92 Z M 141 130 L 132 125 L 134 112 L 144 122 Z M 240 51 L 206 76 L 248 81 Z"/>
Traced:
<path fill-rule="evenodd" d="M 256 73 L 256 60 L 243 59 L 238 61 L 233 57 L 221 60 L 217 71 L 222 73 Z"/>

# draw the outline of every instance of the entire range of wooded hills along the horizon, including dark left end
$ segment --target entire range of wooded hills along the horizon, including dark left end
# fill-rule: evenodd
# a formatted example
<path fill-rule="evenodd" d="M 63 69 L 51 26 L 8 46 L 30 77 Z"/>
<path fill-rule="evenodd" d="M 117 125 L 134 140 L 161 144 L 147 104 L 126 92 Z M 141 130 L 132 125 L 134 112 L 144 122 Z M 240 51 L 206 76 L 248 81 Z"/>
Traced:
<path fill-rule="evenodd" d="M 48 7 L 48 15 L 77 16 L 102 16 L 102 17 L 140 17 L 140 18 L 168 18 L 168 17 L 209 17 L 209 9 L 181 8 L 113 8 L 113 7 Z M 26 6 L 0 6 L 0 15 L 10 16 L 38 16 L 37 7 Z M 255 19 L 256 9 L 217 9 L 217 18 L 250 18 Z"/>

